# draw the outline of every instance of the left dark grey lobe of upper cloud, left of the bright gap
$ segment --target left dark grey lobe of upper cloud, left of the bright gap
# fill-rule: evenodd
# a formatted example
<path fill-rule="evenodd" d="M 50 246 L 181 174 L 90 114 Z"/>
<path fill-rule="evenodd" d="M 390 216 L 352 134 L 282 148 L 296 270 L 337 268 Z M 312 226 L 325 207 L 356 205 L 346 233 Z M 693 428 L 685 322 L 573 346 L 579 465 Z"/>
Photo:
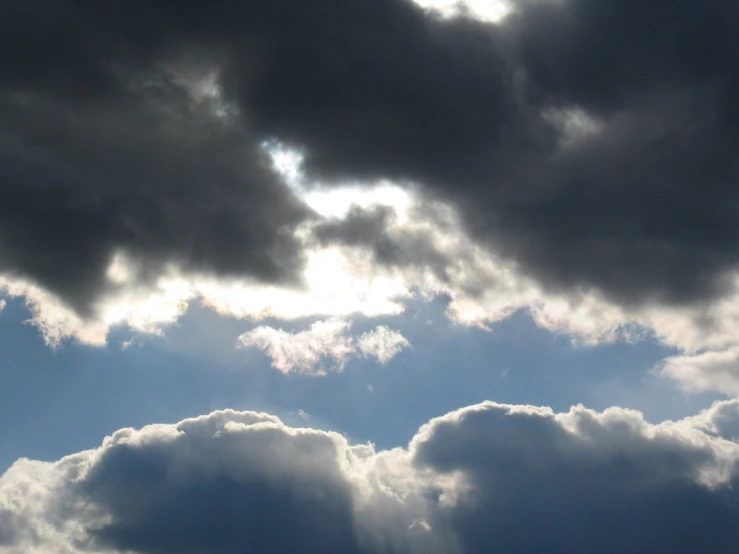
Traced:
<path fill-rule="evenodd" d="M 159 56 L 145 32 L 105 29 L 72 3 L 0 10 L 0 271 L 82 313 L 118 251 L 141 278 L 174 262 L 295 280 L 291 233 L 309 210 L 238 109 L 203 88 L 211 53 Z"/>

